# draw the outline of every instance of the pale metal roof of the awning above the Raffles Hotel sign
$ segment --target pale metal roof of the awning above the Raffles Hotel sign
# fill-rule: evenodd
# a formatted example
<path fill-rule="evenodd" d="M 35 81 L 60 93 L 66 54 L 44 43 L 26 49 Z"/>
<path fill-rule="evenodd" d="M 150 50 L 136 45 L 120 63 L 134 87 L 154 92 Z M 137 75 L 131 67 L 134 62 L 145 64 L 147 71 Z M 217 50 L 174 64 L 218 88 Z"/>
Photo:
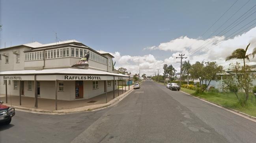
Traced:
<path fill-rule="evenodd" d="M 123 74 L 115 74 L 105 71 L 97 71 L 93 69 L 43 69 L 43 70 L 22 70 L 22 71 L 2 71 L 0 75 L 26 75 L 26 74 L 88 74 L 88 75 L 111 75 L 111 76 L 125 76 Z"/>

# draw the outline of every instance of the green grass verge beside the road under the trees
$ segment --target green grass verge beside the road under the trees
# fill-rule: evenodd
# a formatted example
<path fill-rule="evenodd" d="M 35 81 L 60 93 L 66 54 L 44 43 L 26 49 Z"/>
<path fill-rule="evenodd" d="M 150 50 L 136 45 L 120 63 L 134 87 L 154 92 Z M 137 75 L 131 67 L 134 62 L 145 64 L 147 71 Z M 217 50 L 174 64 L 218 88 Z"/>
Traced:
<path fill-rule="evenodd" d="M 239 110 L 240 112 L 244 112 L 251 116 L 256 117 L 256 102 L 255 97 L 252 98 L 249 96 L 246 107 L 241 107 L 241 105 L 237 102 L 237 98 L 234 93 L 224 93 L 224 92 L 204 92 L 202 94 L 196 94 L 195 91 L 190 89 L 181 88 L 181 91 L 192 94 L 193 96 L 205 99 L 207 101 L 211 101 L 213 103 L 217 103 L 222 107 L 231 108 L 235 110 Z M 239 96 L 244 96 L 243 93 L 239 93 Z"/>

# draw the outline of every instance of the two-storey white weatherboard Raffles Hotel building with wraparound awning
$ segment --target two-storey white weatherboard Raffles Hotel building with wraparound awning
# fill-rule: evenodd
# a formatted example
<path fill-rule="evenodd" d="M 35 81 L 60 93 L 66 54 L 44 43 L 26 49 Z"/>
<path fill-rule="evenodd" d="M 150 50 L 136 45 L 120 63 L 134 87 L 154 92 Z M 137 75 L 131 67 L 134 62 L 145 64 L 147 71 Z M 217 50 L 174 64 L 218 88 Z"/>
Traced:
<path fill-rule="evenodd" d="M 88 65 L 71 67 L 87 52 Z M 7 95 L 34 97 L 36 107 L 37 98 L 89 99 L 117 89 L 117 80 L 129 80 L 113 73 L 112 58 L 76 40 L 0 49 L 0 95 L 6 101 Z"/>

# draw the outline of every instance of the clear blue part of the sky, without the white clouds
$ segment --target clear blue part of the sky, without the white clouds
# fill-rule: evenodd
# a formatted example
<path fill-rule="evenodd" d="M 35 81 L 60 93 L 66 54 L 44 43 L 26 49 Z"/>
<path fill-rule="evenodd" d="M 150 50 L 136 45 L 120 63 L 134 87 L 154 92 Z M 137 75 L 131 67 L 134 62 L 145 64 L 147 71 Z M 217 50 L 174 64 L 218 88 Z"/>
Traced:
<path fill-rule="evenodd" d="M 52 43 L 56 31 L 60 40 L 75 39 L 95 50 L 164 61 L 176 52 L 143 49 L 181 36 L 204 40 L 246 1 L 239 0 L 200 37 L 235 0 L 0 0 L 0 47 Z"/>

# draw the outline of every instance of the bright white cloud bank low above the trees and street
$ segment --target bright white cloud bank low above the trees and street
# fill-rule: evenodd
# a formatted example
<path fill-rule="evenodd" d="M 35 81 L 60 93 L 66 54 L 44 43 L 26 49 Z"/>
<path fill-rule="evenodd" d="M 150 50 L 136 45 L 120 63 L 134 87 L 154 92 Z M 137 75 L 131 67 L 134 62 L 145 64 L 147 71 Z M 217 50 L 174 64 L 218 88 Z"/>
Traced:
<path fill-rule="evenodd" d="M 216 41 L 211 43 L 213 40 Z M 121 56 L 120 52 L 115 52 L 113 55 L 115 56 L 114 61 L 117 63 L 116 69 L 118 69 L 118 67 L 124 67 L 127 68 L 128 72 L 132 73 L 138 73 L 139 69 L 141 69 L 141 73 L 152 75 L 153 73 L 157 72 L 157 69 L 160 69 L 159 72 L 162 73 L 164 63 L 168 65 L 172 64 L 177 69 L 177 72 L 179 72 L 180 63 L 177 63 L 179 59 L 176 59 L 176 57 L 181 53 L 188 56 L 187 59 L 183 60 L 190 60 L 191 63 L 195 63 L 196 61 L 216 61 L 219 65 L 228 67 L 229 63 L 239 60 L 230 60 L 226 62 L 226 56 L 230 55 L 232 51 L 237 48 L 245 48 L 248 43 L 251 43 L 248 50 L 248 53 L 250 53 L 256 47 L 256 27 L 250 29 L 250 31 L 246 33 L 237 35 L 228 40 L 225 40 L 224 36 L 215 36 L 206 40 L 181 36 L 174 40 L 170 40 L 170 42 L 160 43 L 158 46 L 151 46 L 143 49 L 169 51 L 172 53 L 172 56 L 166 57 L 164 60 L 158 60 L 152 54 L 142 56 Z M 203 45 L 203 48 L 198 49 L 198 47 L 201 45 Z M 191 55 L 191 53 L 193 53 L 195 50 L 198 50 L 198 53 L 201 53 L 198 55 Z M 254 65 L 255 63 L 256 58 L 251 58 L 250 62 L 247 61 L 247 64 L 249 65 Z"/>

